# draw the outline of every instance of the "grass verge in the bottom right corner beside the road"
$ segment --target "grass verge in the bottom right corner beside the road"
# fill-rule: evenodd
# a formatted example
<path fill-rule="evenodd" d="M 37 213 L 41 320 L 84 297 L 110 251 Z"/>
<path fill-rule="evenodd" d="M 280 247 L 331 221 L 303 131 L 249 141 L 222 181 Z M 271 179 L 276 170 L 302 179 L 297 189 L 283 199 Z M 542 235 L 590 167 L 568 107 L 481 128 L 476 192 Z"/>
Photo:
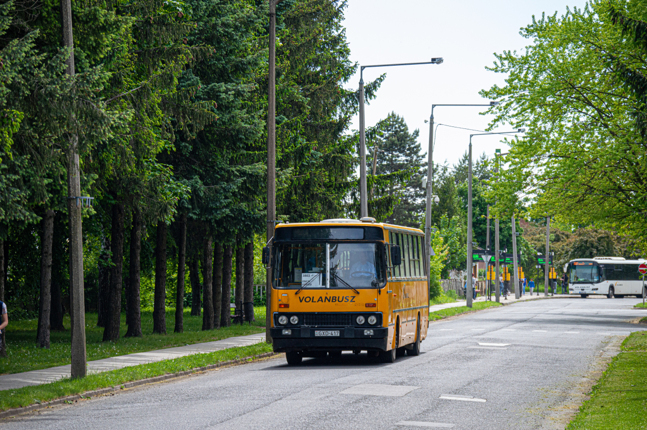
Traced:
<path fill-rule="evenodd" d="M 647 332 L 624 339 L 567 430 L 647 428 Z"/>

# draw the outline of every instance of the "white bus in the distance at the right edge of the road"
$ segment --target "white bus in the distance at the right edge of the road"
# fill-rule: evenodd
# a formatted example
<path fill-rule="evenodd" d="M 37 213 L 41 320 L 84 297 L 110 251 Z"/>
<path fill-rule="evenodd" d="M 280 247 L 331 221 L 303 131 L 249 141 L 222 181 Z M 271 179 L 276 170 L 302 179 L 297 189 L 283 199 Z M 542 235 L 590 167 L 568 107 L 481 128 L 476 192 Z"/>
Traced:
<path fill-rule="evenodd" d="M 569 293 L 582 297 L 604 294 L 609 299 L 624 296 L 642 298 L 645 288 L 638 266 L 645 262 L 644 259 L 626 260 L 622 257 L 571 260 L 564 266 L 564 272 L 569 275 Z"/>

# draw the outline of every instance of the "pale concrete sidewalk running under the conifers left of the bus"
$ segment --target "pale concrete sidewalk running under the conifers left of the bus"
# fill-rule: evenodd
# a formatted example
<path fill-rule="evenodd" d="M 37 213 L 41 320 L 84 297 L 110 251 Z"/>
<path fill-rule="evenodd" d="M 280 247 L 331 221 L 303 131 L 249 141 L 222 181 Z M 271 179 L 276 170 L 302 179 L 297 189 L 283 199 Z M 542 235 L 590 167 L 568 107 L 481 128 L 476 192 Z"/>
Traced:
<path fill-rule="evenodd" d="M 247 336 L 236 336 L 213 342 L 194 343 L 184 347 L 159 349 L 148 352 L 136 352 L 125 356 L 104 358 L 102 360 L 88 361 L 87 372 L 98 373 L 122 369 L 122 367 L 136 366 L 139 364 L 154 363 L 155 361 L 170 360 L 172 358 L 184 357 L 191 354 L 204 354 L 232 347 L 246 347 L 265 341 L 265 333 L 248 334 Z M 70 365 L 50 367 L 39 371 L 29 371 L 0 375 L 0 390 L 10 390 L 28 385 L 40 385 L 43 383 L 58 381 L 62 378 L 69 378 Z"/>

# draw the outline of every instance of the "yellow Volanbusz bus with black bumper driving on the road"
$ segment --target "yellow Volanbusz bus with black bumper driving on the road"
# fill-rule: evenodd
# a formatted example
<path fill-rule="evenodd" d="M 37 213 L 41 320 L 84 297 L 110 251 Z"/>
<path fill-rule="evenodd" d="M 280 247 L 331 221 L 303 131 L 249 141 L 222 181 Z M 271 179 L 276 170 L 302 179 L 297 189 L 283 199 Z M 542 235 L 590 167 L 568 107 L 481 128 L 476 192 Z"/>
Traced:
<path fill-rule="evenodd" d="M 386 363 L 420 353 L 429 316 L 421 230 L 369 217 L 286 223 L 271 249 L 270 334 L 289 365 L 345 350 Z"/>

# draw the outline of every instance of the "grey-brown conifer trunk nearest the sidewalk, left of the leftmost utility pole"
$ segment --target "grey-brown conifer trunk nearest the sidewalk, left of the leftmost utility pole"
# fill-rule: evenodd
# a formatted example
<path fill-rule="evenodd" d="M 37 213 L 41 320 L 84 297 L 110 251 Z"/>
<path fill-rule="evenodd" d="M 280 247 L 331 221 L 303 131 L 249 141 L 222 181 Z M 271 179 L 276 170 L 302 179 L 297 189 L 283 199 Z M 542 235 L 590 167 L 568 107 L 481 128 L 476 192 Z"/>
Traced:
<path fill-rule="evenodd" d="M 52 305 L 52 235 L 54 234 L 54 211 L 46 210 L 42 220 L 41 235 L 41 294 L 38 312 L 36 343 L 49 349 L 49 314 Z"/>

